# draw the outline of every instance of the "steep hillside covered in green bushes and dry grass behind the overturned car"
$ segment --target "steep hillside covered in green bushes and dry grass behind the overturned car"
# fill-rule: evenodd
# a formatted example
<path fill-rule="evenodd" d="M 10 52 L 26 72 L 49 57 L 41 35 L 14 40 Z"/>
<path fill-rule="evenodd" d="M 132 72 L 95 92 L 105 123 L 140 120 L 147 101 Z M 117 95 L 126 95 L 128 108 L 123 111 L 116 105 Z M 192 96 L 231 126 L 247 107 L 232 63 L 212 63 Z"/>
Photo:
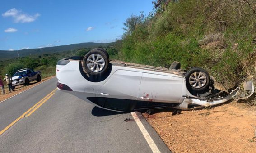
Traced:
<path fill-rule="evenodd" d="M 164 9 L 123 36 L 120 59 L 162 67 L 180 61 L 183 69 L 203 67 L 227 86 L 255 72 L 255 1 L 158 1 Z"/>

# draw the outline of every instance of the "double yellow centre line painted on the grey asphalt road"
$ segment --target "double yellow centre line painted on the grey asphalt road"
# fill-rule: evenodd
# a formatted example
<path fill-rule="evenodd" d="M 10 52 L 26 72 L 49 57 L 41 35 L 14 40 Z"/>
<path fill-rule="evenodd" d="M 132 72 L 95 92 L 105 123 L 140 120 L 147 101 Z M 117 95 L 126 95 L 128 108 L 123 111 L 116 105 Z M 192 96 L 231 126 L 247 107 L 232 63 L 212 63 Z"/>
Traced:
<path fill-rule="evenodd" d="M 9 124 L 8 126 L 6 126 L 3 130 L 0 131 L 0 135 L 2 135 L 6 130 L 8 130 L 11 126 L 13 126 L 17 121 L 19 121 L 20 119 L 22 119 L 23 117 L 25 117 L 26 114 L 28 114 L 28 112 L 30 112 L 31 110 L 33 110 L 33 108 L 37 107 L 37 105 L 41 104 L 42 103 L 45 103 L 45 99 L 49 99 L 53 94 L 55 94 L 54 92 L 57 90 L 57 88 L 53 91 L 51 91 L 50 94 L 47 94 L 47 96 L 45 96 L 43 99 L 41 99 L 39 102 L 37 102 L 34 106 L 32 106 L 31 108 L 29 108 L 26 112 L 24 112 L 20 117 L 18 117 L 16 120 L 14 120 L 11 124 Z M 49 96 L 49 98 L 48 98 Z M 42 104 L 41 104 L 42 105 Z M 40 106 L 41 106 L 40 105 Z M 39 106 L 39 107 L 40 107 Z M 39 108 L 38 107 L 38 108 Z M 34 111 L 33 111 L 34 112 Z M 32 113 L 33 113 L 32 112 Z M 32 114 L 30 113 L 30 115 Z"/>

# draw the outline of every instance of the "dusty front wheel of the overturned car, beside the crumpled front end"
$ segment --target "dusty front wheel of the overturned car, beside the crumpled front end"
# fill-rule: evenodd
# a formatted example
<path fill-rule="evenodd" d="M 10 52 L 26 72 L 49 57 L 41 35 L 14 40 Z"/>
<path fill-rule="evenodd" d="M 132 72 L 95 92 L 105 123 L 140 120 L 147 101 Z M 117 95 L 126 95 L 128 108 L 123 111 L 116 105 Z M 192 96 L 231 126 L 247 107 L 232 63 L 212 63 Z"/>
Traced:
<path fill-rule="evenodd" d="M 194 67 L 185 74 L 186 86 L 189 90 L 203 92 L 209 89 L 210 76 L 207 71 L 202 68 Z"/>

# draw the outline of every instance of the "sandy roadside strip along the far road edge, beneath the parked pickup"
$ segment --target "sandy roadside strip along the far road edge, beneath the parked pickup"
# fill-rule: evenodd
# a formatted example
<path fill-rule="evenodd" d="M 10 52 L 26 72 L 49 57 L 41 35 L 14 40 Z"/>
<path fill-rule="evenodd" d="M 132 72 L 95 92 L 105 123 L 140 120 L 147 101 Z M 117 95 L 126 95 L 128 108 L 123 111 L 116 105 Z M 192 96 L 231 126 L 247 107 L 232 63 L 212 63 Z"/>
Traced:
<path fill-rule="evenodd" d="M 28 90 L 29 88 L 32 88 L 33 86 L 38 85 L 39 83 L 47 81 L 47 80 L 51 79 L 52 77 L 55 77 L 55 76 L 44 78 L 41 80 L 41 82 L 37 82 L 37 81 L 30 82 L 30 85 L 28 85 L 28 86 L 25 86 L 25 85 L 16 86 L 16 88 L 14 89 L 15 91 L 14 92 L 12 91 L 11 93 L 9 93 L 9 90 L 6 88 L 5 88 L 5 94 L 2 94 L 2 90 L 0 90 L 0 102 L 5 99 L 8 99 L 16 94 L 21 93 L 24 90 Z"/>

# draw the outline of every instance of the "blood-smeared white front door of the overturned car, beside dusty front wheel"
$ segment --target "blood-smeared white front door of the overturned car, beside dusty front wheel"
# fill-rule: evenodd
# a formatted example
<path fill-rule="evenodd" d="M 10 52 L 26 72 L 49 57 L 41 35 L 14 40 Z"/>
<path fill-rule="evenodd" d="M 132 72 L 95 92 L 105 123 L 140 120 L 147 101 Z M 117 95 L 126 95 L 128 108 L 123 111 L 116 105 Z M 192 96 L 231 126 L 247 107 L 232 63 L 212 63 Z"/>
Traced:
<path fill-rule="evenodd" d="M 179 103 L 184 79 L 181 77 L 142 73 L 137 100 Z"/>

